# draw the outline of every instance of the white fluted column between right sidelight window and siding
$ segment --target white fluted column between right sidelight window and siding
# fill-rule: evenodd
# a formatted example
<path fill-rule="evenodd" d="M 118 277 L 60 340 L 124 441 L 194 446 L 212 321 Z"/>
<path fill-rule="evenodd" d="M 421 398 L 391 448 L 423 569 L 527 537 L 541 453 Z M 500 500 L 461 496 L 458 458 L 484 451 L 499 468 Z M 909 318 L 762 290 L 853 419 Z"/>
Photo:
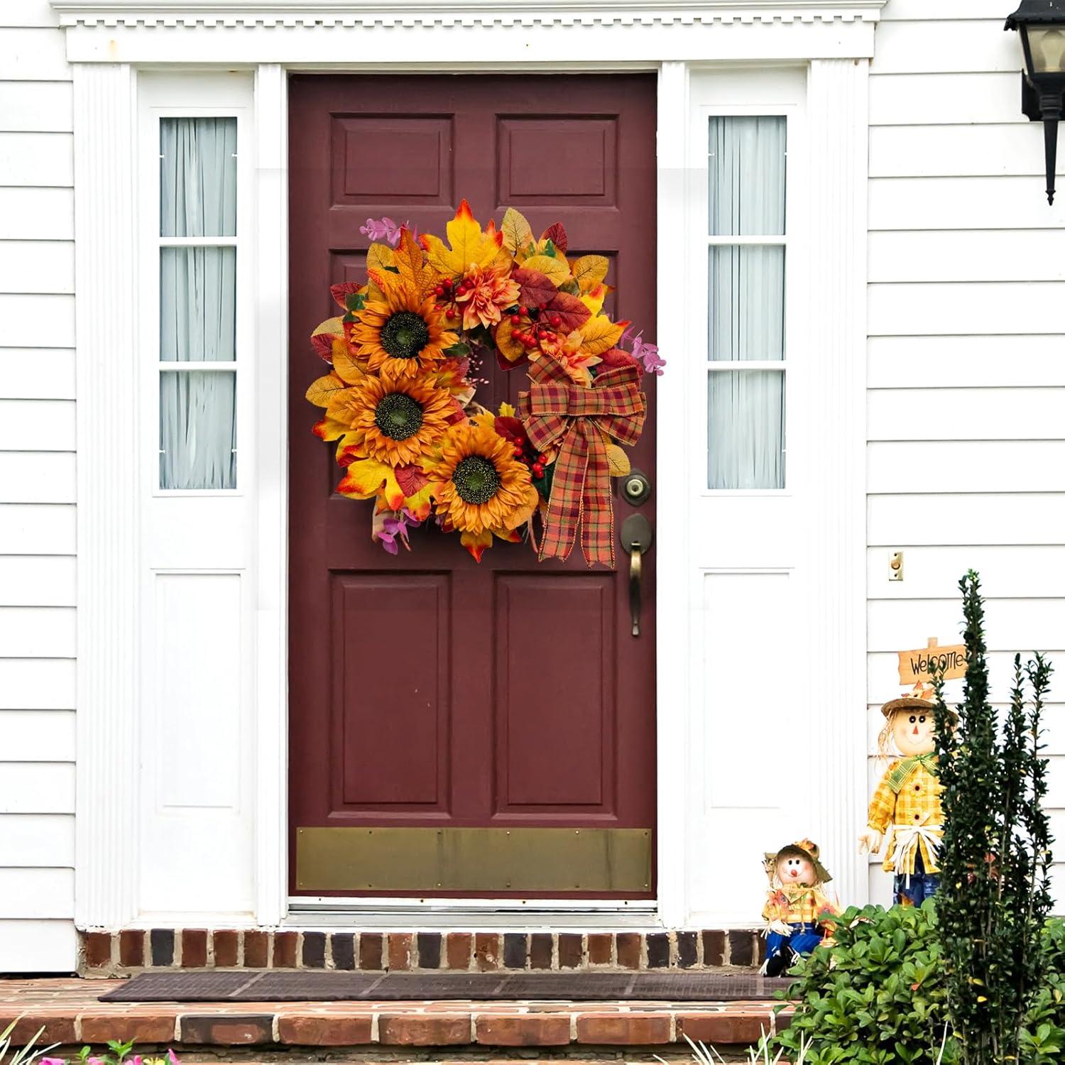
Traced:
<path fill-rule="evenodd" d="M 803 775 L 816 802 L 813 838 L 841 900 L 868 898 L 865 855 L 865 378 L 869 63 L 809 65 L 809 469 L 821 497 L 809 508 L 806 651 L 822 678 L 808 699 L 814 764 Z"/>

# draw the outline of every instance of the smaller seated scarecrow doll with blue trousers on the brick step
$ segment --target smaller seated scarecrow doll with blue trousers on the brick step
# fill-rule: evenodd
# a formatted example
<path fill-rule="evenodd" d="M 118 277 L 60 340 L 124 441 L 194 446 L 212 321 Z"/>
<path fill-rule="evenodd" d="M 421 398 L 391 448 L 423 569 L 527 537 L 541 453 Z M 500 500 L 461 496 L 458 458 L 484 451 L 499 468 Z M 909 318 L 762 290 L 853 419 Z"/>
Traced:
<path fill-rule="evenodd" d="M 766 919 L 766 964 L 761 971 L 777 977 L 825 938 L 829 915 L 838 907 L 824 894 L 832 878 L 821 865 L 817 843 L 808 839 L 766 854 L 769 890 L 761 916 Z"/>

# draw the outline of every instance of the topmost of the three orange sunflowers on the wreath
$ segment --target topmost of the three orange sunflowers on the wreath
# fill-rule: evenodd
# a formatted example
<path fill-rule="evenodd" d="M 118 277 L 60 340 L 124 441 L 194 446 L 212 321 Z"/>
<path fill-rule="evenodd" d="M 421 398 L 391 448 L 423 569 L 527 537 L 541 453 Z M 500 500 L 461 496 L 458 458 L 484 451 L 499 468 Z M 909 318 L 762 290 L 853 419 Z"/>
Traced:
<path fill-rule="evenodd" d="M 442 361 L 445 349 L 459 342 L 432 296 L 420 296 L 399 279 L 382 290 L 381 299 L 367 302 L 358 316 L 351 344 L 372 372 L 414 377 Z"/>

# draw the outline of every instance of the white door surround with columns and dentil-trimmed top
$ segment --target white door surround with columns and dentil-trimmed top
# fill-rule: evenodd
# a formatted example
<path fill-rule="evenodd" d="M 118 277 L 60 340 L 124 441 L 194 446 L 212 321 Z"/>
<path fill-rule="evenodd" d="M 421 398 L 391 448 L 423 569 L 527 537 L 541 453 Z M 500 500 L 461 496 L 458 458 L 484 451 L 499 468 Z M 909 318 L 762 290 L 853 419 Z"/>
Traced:
<path fill-rule="evenodd" d="M 286 76 L 290 70 L 400 72 L 652 70 L 658 75 L 659 263 L 676 255 L 687 232 L 685 181 L 689 75 L 694 67 L 736 63 L 807 66 L 809 183 L 817 266 L 809 296 L 828 309 L 812 325 L 815 346 L 838 374 L 825 396 L 839 420 L 823 427 L 825 476 L 838 486 L 831 513 L 819 524 L 817 557 L 825 569 L 812 592 L 812 613 L 830 626 L 832 692 L 820 710 L 831 724 L 812 779 L 822 774 L 813 809 L 828 840 L 837 882 L 864 898 L 865 863 L 843 850 L 864 803 L 865 723 L 865 279 L 866 121 L 868 61 L 885 0 L 668 0 L 617 3 L 545 0 L 515 13 L 502 0 L 455 5 L 428 0 L 410 14 L 404 0 L 382 0 L 366 11 L 357 0 L 52 0 L 66 28 L 73 65 L 78 417 L 78 807 L 76 921 L 79 928 L 150 925 L 163 915 L 143 914 L 136 885 L 135 833 L 141 789 L 136 744 L 141 604 L 138 501 L 130 489 L 143 458 L 135 435 L 112 412 L 134 410 L 138 367 L 134 294 L 137 233 L 130 216 L 135 178 L 137 71 L 163 67 L 195 72 L 212 64 L 255 75 L 257 353 L 255 408 L 258 466 L 253 486 L 258 534 L 248 573 L 255 596 L 251 634 L 253 735 L 241 737 L 252 755 L 253 907 L 246 914 L 198 912 L 197 921 L 276 925 L 289 914 L 286 891 L 286 432 L 288 152 Z M 327 14 L 323 15 L 323 10 Z M 265 14 L 264 14 L 265 11 Z M 237 32 L 233 32 L 233 28 Z M 639 27 L 634 30 L 634 27 Z M 580 32 L 586 31 L 586 32 Z M 353 64 L 353 33 L 363 54 Z M 589 62 L 589 42 L 595 53 Z M 460 39 L 461 38 L 461 39 Z M 400 43 L 402 42 L 402 43 Z M 404 49 L 404 60 L 389 59 Z M 712 56 L 712 63 L 709 56 Z M 690 338 L 681 315 L 665 313 L 676 300 L 675 281 L 659 271 L 657 340 L 673 367 L 683 365 Z M 95 312 L 93 309 L 98 309 Z M 103 312 L 106 309 L 106 312 Z M 124 406 L 124 404 L 126 406 Z M 692 776 L 686 757 L 689 702 L 700 656 L 690 645 L 690 542 L 686 521 L 690 471 L 686 443 L 689 409 L 685 375 L 658 382 L 657 491 L 679 501 L 675 519 L 658 531 L 658 899 L 648 920 L 667 928 L 714 918 L 689 898 L 689 863 L 699 853 L 691 814 Z M 109 416 L 110 415 L 110 416 Z M 278 431 L 283 428 L 284 431 Z M 666 458 L 670 457 L 670 461 Z M 853 723 L 851 723 L 853 719 Z M 756 759 L 752 758 L 752 764 Z M 839 803 L 835 810 L 829 804 Z M 124 862 L 114 858 L 122 841 Z M 829 848 L 826 847 L 825 850 Z M 363 903 L 372 900 L 363 900 Z M 470 903 L 463 902 L 469 908 Z M 484 900 L 486 908 L 499 908 Z M 379 907 L 378 907 L 379 908 Z M 440 902 L 425 912 L 440 911 Z M 548 908 L 540 906 L 538 908 Z M 559 908 L 573 911 L 572 903 Z M 611 910 L 613 904 L 611 904 Z M 632 907 L 625 907 L 632 908 Z M 419 918 L 421 919 L 421 918 Z M 612 917 L 611 917 L 612 919 Z M 506 923 L 502 915 L 501 923 Z M 722 915 L 720 922 L 734 920 Z"/>

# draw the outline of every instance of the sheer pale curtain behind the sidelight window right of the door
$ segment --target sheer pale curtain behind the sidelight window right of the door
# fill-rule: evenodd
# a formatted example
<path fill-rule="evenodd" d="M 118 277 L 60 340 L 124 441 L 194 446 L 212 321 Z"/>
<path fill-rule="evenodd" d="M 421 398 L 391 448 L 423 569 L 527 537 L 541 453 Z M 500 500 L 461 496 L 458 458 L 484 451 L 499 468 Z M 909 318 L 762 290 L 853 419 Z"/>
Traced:
<path fill-rule="evenodd" d="M 776 370 L 715 370 L 707 383 L 707 486 L 784 487 L 784 247 L 786 119 L 709 119 L 711 244 L 707 347 L 714 362 L 781 361 Z"/>

